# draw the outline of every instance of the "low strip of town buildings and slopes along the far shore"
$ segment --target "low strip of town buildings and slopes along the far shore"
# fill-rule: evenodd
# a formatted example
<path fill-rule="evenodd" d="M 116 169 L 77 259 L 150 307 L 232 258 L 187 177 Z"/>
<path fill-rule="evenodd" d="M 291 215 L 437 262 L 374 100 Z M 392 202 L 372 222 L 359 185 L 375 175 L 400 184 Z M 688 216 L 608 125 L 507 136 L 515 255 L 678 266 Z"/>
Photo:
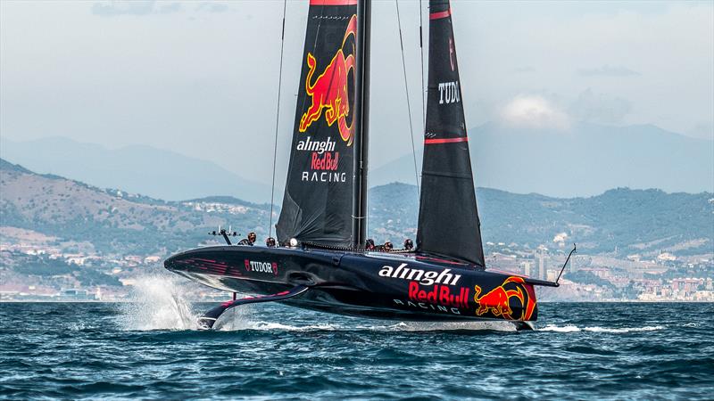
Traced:
<path fill-rule="evenodd" d="M 204 206 L 204 205 L 203 205 Z M 555 281 L 569 253 L 566 238 L 528 249 L 516 243 L 486 242 L 490 269 Z M 0 283 L 2 301 L 126 301 L 142 277 L 166 274 L 162 261 L 168 255 L 102 255 L 32 243 L 0 243 L 3 258 L 26 260 L 29 265 L 54 268 L 57 274 L 28 274 Z M 70 267 L 62 270 L 63 266 Z M 92 268 L 106 276 L 104 282 L 83 283 L 71 272 Z M 627 258 L 575 254 L 566 266 L 559 289 L 544 289 L 544 301 L 677 301 L 714 302 L 714 282 L 708 272 L 714 260 L 677 257 L 661 252 L 654 258 L 632 254 Z M 168 274 L 167 274 L 168 276 Z M 168 277 L 167 277 L 168 279 Z M 112 280 L 110 282 L 107 280 Z M 86 280 L 85 280 L 86 282 Z M 187 281 L 188 282 L 188 281 Z M 577 283 L 577 285 L 575 285 Z M 224 299 L 220 291 L 188 284 L 196 301 Z"/>

